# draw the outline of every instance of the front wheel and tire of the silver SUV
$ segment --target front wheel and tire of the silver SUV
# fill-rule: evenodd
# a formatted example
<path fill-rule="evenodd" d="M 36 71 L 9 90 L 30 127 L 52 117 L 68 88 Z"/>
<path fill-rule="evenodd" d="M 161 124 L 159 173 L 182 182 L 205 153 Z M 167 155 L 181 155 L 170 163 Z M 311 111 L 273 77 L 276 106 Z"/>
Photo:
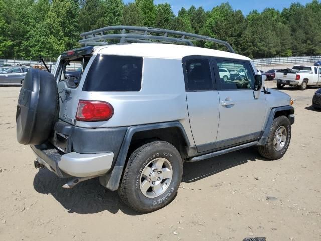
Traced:
<path fill-rule="evenodd" d="M 278 133 L 282 135 L 277 135 Z M 284 156 L 290 145 L 291 134 L 291 123 L 289 119 L 284 115 L 275 118 L 270 128 L 266 144 L 258 147 L 259 153 L 261 156 L 270 160 L 280 159 Z"/>

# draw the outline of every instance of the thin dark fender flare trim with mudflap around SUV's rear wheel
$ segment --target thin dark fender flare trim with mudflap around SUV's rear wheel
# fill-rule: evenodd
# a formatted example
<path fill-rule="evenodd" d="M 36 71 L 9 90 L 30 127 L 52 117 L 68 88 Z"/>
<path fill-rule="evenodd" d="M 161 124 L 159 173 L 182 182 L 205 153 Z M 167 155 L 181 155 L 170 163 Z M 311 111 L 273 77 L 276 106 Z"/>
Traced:
<path fill-rule="evenodd" d="M 178 121 L 173 122 L 165 122 L 165 123 L 155 123 L 155 124 L 146 124 L 146 125 L 138 125 L 138 126 L 130 126 L 127 128 L 124 140 L 122 142 L 119 154 L 115 160 L 115 164 L 111 172 L 107 173 L 104 176 L 99 178 L 100 183 L 108 188 L 111 191 L 115 191 L 119 187 L 119 183 L 123 174 L 123 170 L 126 163 L 126 157 L 128 154 L 129 146 L 131 143 L 131 139 L 136 132 L 154 130 L 154 129 L 163 129 L 177 127 L 183 134 L 183 138 L 185 139 L 187 145 L 190 145 L 189 139 L 186 135 L 184 127 Z"/>

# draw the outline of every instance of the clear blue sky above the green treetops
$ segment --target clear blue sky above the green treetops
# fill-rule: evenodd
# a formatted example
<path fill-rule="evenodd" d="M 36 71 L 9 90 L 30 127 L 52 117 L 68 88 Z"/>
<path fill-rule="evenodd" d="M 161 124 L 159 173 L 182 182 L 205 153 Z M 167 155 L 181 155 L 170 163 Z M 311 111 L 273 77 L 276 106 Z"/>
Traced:
<path fill-rule="evenodd" d="M 133 2 L 133 0 L 124 0 L 124 3 Z M 250 11 L 256 9 L 262 12 L 265 8 L 275 8 L 282 11 L 283 8 L 289 7 L 293 2 L 300 2 L 305 5 L 312 2 L 312 0 L 229 0 L 229 1 L 215 1 L 215 0 L 154 0 L 155 4 L 169 3 L 172 6 L 174 14 L 177 15 L 178 11 L 185 7 L 190 8 L 194 5 L 196 8 L 202 6 L 205 10 L 211 10 L 221 3 L 228 2 L 234 10 L 242 10 L 244 15 L 247 15 Z"/>

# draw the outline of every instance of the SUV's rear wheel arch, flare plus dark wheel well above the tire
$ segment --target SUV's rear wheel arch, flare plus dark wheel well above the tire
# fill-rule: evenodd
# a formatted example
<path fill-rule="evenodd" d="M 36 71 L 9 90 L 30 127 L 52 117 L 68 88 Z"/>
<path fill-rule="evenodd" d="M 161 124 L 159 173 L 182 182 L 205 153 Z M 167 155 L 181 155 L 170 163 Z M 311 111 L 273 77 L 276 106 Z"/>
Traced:
<path fill-rule="evenodd" d="M 154 140 L 171 143 L 183 155 L 182 158 L 186 155 L 184 154 L 184 145 L 190 146 L 184 128 L 178 121 L 128 127 L 114 167 L 110 173 L 100 177 L 100 183 L 109 190 L 117 190 L 130 151 Z"/>

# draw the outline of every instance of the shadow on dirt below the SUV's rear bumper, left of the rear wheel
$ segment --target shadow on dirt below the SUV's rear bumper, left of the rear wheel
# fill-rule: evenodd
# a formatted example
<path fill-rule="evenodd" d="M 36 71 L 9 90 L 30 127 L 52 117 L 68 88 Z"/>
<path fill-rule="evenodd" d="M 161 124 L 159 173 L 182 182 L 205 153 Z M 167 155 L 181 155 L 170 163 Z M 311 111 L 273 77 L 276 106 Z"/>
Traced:
<path fill-rule="evenodd" d="M 37 192 L 52 195 L 70 213 L 89 214 L 121 210 L 127 215 L 139 215 L 123 204 L 116 191 L 110 191 L 100 185 L 98 178 L 81 182 L 72 189 L 62 186 L 70 179 L 61 179 L 48 169 L 39 170 L 34 178 Z"/>

